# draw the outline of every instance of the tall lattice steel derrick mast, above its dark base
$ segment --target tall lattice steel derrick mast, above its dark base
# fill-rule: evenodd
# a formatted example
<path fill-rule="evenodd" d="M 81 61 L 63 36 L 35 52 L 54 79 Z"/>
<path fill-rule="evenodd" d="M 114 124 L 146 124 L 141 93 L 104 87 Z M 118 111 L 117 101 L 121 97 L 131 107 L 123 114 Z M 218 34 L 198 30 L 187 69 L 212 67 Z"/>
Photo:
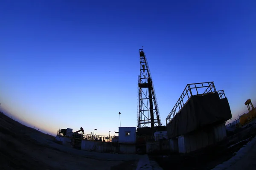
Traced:
<path fill-rule="evenodd" d="M 140 49 L 140 77 L 138 96 L 138 126 L 160 126 L 157 100 L 154 93 L 154 85 L 148 67 L 148 62 L 143 49 Z"/>

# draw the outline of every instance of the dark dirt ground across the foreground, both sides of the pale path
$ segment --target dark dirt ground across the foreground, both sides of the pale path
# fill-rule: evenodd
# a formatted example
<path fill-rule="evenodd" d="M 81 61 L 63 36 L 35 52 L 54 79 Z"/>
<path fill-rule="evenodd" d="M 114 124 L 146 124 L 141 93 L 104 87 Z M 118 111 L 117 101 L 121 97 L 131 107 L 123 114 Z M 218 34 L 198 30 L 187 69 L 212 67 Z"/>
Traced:
<path fill-rule="evenodd" d="M 254 124 L 230 136 L 229 141 L 233 141 L 230 144 L 248 137 L 252 139 L 256 134 L 256 120 Z M 210 170 L 232 158 L 247 143 L 240 142 L 228 149 L 211 148 L 204 153 L 190 156 L 151 156 L 151 159 L 157 161 L 164 170 L 170 167 L 183 170 Z M 254 170 L 255 153 L 256 138 L 254 143 L 250 142 L 250 147 L 247 146 L 244 156 L 238 156 L 230 165 L 225 163 L 215 169 Z M 142 158 L 140 155 L 89 152 L 57 144 L 55 136 L 21 125 L 0 113 L 0 170 L 135 170 L 139 159 L 141 161 Z"/>

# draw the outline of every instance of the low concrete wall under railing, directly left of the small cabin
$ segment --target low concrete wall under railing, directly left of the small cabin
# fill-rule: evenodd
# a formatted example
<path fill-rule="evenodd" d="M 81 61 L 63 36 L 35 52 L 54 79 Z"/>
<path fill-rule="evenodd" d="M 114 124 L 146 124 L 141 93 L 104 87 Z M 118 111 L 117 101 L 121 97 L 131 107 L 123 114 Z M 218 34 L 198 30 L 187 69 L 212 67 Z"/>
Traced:
<path fill-rule="evenodd" d="M 100 142 L 82 140 L 81 150 L 95 151 L 95 152 L 118 152 L 119 147 L 116 142 Z"/>

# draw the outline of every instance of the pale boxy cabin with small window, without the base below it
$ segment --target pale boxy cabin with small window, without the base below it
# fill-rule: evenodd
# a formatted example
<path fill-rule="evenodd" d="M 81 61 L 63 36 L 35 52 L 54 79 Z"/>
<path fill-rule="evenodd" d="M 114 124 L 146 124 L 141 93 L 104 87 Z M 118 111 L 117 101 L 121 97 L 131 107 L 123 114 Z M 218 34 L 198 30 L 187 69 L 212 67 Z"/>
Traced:
<path fill-rule="evenodd" d="M 128 142 L 135 143 L 136 142 L 136 127 L 119 127 L 118 133 L 119 143 Z"/>

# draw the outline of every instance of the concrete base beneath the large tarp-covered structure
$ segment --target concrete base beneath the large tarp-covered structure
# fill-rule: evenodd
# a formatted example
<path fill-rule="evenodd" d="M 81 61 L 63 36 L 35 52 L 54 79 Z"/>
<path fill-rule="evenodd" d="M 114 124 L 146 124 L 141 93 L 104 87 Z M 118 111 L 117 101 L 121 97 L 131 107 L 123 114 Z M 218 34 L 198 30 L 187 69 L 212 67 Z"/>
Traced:
<path fill-rule="evenodd" d="M 178 137 L 178 151 L 179 153 L 190 153 L 221 142 L 226 137 L 224 124 L 215 125 L 204 130 L 195 130 L 193 133 Z M 175 147 L 172 148 L 171 151 L 174 151 Z"/>

